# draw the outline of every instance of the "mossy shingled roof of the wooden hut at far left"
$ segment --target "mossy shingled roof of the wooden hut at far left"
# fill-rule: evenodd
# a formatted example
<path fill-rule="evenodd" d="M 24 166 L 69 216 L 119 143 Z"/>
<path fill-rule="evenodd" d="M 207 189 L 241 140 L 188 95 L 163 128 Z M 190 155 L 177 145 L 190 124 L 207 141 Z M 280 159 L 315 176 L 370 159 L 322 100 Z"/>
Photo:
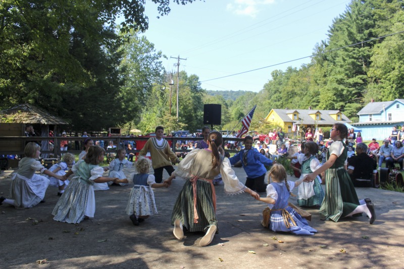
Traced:
<path fill-rule="evenodd" d="M 0 123 L 68 125 L 64 120 L 28 103 L 0 111 Z"/>

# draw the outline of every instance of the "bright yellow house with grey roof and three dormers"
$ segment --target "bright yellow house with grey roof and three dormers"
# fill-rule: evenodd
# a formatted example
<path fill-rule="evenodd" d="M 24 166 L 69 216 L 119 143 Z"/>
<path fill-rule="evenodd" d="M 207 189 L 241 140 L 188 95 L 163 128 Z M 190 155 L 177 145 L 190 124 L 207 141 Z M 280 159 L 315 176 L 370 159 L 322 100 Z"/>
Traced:
<path fill-rule="evenodd" d="M 284 132 L 293 132 L 293 124 L 298 127 L 332 126 L 335 123 L 351 123 L 339 110 L 281 110 L 272 109 L 265 118 L 268 123 L 273 123 L 283 129 Z"/>

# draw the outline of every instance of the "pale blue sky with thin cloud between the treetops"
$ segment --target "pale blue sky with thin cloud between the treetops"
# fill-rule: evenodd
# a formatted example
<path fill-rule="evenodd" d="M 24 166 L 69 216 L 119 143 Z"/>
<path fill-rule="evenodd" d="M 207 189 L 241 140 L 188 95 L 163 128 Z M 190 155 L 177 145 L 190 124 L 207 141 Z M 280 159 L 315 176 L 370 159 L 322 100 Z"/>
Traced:
<path fill-rule="evenodd" d="M 185 6 L 171 4 L 168 16 L 158 16 L 146 2 L 149 29 L 144 35 L 169 59 L 164 67 L 195 74 L 199 81 L 254 70 L 307 57 L 327 39 L 335 17 L 350 1 L 341 0 L 205 0 Z M 300 67 L 310 58 L 241 75 L 203 82 L 207 90 L 260 91 L 275 69 Z"/>

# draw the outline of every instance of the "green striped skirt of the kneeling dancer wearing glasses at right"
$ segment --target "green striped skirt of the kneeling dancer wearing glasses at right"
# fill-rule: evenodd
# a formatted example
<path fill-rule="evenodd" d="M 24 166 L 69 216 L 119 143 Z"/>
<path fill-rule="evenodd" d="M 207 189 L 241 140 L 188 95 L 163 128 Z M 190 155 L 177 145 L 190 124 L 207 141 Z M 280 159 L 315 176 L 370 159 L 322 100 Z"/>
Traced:
<path fill-rule="evenodd" d="M 343 167 L 328 169 L 325 177 L 325 196 L 320 207 L 320 213 L 326 220 L 337 222 L 347 216 L 359 205 L 359 199 L 354 184 Z M 361 213 L 354 217 L 361 216 Z"/>

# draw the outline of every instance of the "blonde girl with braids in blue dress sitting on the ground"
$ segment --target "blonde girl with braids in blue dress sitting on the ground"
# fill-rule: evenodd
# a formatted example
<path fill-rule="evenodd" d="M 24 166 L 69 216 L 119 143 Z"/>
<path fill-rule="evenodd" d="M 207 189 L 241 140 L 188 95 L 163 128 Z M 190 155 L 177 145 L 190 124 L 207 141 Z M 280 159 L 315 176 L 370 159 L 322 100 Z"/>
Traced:
<path fill-rule="evenodd" d="M 258 198 L 259 201 L 268 203 L 268 207 L 263 211 L 262 225 L 274 232 L 290 232 L 295 235 L 317 233 L 317 230 L 309 226 L 306 219 L 288 205 L 290 191 L 300 185 L 303 179 L 295 182 L 287 181 L 286 170 L 279 164 L 272 166 L 268 182 L 270 178 L 272 182 L 267 186 L 267 197 Z"/>

